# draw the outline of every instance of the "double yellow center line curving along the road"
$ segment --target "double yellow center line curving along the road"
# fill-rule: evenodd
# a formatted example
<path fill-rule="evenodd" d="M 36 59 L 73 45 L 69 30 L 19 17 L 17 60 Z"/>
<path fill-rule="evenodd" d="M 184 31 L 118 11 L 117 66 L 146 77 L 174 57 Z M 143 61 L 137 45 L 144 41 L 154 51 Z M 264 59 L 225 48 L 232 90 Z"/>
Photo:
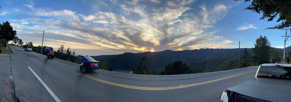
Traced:
<path fill-rule="evenodd" d="M 253 71 L 257 71 L 257 70 L 253 70 Z M 253 72 L 253 71 L 245 72 L 245 73 L 242 73 L 242 74 L 247 74 L 247 73 L 250 73 L 250 72 Z M 92 76 L 88 76 L 88 75 L 81 74 L 81 73 L 77 73 L 77 74 L 79 74 L 81 76 L 86 76 L 88 78 L 91 78 L 93 80 L 97 80 L 97 81 L 102 82 L 102 83 L 106 83 L 106 84 L 110 84 L 110 85 L 114 85 L 114 86 L 119 86 L 119 87 L 131 88 L 131 89 L 139 89 L 139 90 L 171 90 L 171 89 L 179 89 L 179 88 L 184 88 L 184 87 L 202 85 L 202 84 L 211 83 L 211 82 L 215 82 L 215 81 L 219 81 L 219 80 L 223 80 L 223 79 L 227 79 L 227 78 L 231 78 L 231 77 L 242 75 L 242 74 L 237 74 L 237 75 L 228 76 L 228 77 L 220 78 L 220 79 L 216 79 L 216 80 L 210 80 L 210 81 L 206 81 L 206 82 L 202 82 L 202 83 L 195 83 L 195 84 L 181 85 L 181 86 L 173 86 L 173 87 L 139 87 L 139 86 L 130 86 L 130 85 L 112 83 L 112 82 L 109 82 L 109 81 L 105 81 L 105 80 L 101 80 L 101 79 L 98 79 L 98 78 L 94 78 Z"/>

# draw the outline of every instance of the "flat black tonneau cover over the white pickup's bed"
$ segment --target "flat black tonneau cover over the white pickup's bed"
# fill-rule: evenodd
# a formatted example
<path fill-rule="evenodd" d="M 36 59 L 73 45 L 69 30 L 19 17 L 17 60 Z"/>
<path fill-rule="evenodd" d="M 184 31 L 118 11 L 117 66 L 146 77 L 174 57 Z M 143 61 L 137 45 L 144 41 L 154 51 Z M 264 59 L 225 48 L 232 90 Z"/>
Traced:
<path fill-rule="evenodd" d="M 227 94 L 233 102 L 239 99 L 260 99 L 262 101 L 291 102 L 291 80 L 254 77 L 229 87 Z M 250 98 L 246 98 L 250 97 Z M 230 102 L 232 102 L 229 100 Z M 251 102 L 251 100 L 249 101 Z"/>

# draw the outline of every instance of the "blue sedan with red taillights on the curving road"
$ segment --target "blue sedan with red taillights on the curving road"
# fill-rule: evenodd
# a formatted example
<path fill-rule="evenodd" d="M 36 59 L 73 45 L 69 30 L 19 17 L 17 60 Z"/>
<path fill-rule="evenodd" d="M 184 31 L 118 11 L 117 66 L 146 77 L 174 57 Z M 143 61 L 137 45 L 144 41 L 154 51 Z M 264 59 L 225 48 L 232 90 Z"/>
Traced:
<path fill-rule="evenodd" d="M 82 64 L 80 65 L 80 70 L 82 73 L 86 73 L 87 71 L 95 71 L 99 70 L 99 62 L 91 58 L 90 56 L 79 55 Z"/>

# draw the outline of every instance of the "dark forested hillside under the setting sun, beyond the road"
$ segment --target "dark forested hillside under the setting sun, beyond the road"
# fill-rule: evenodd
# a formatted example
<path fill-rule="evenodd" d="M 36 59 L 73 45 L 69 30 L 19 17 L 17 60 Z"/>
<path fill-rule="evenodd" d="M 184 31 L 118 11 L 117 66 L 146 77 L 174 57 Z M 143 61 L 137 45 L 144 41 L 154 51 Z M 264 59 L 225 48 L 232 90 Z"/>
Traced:
<path fill-rule="evenodd" d="M 275 48 L 279 51 L 279 55 L 283 56 L 283 49 Z M 274 49 L 274 50 L 275 50 Z M 243 53 L 244 48 L 240 49 L 240 53 Z M 253 51 L 251 48 L 247 49 L 251 55 Z M 281 51 L 282 50 L 282 51 Z M 288 51 L 288 50 L 286 50 Z M 123 63 L 125 69 L 129 70 L 130 66 L 139 65 L 139 60 L 145 56 L 148 58 L 151 72 L 156 73 L 160 69 L 164 68 L 169 62 L 176 60 L 182 60 L 187 63 L 194 73 L 198 72 L 211 72 L 218 71 L 218 67 L 226 60 L 238 59 L 238 48 L 237 49 L 195 49 L 195 50 L 183 50 L 183 51 L 172 51 L 164 50 L 160 52 L 143 52 L 143 53 L 123 53 L 119 55 L 101 55 L 91 56 L 97 60 L 103 60 L 107 66 L 113 70 L 123 69 Z"/>

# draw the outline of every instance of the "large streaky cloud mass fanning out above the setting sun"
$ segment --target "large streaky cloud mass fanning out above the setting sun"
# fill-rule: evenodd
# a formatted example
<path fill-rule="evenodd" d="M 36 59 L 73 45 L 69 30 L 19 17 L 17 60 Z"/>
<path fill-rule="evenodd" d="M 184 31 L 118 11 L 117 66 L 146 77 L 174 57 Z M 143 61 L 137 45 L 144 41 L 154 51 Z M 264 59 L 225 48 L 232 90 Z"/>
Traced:
<path fill-rule="evenodd" d="M 166 1 L 165 5 L 155 6 L 160 2 L 159 0 L 98 2 L 93 6 L 109 8 L 114 5 L 120 9 L 114 12 L 96 10 L 87 15 L 67 9 L 34 8 L 33 4 L 26 4 L 24 6 L 31 8 L 27 14 L 32 17 L 17 20 L 17 23 L 15 21 L 12 25 L 16 29 L 28 31 L 45 29 L 45 34 L 52 35 L 46 39 L 53 41 L 52 45 L 56 47 L 65 44 L 72 49 L 118 53 L 149 51 L 152 48 L 156 51 L 223 46 L 226 48 L 233 42 L 215 35 L 219 32 L 215 29 L 207 30 L 215 28 L 214 24 L 223 19 L 229 9 L 228 6 L 216 4 L 208 8 L 203 4 L 200 6 L 201 11 L 198 9 L 199 13 L 193 14 L 187 11 L 193 10 L 191 4 L 195 2 L 194 0 Z M 24 22 L 36 26 L 29 26 Z M 24 34 L 24 31 L 20 32 Z"/>

